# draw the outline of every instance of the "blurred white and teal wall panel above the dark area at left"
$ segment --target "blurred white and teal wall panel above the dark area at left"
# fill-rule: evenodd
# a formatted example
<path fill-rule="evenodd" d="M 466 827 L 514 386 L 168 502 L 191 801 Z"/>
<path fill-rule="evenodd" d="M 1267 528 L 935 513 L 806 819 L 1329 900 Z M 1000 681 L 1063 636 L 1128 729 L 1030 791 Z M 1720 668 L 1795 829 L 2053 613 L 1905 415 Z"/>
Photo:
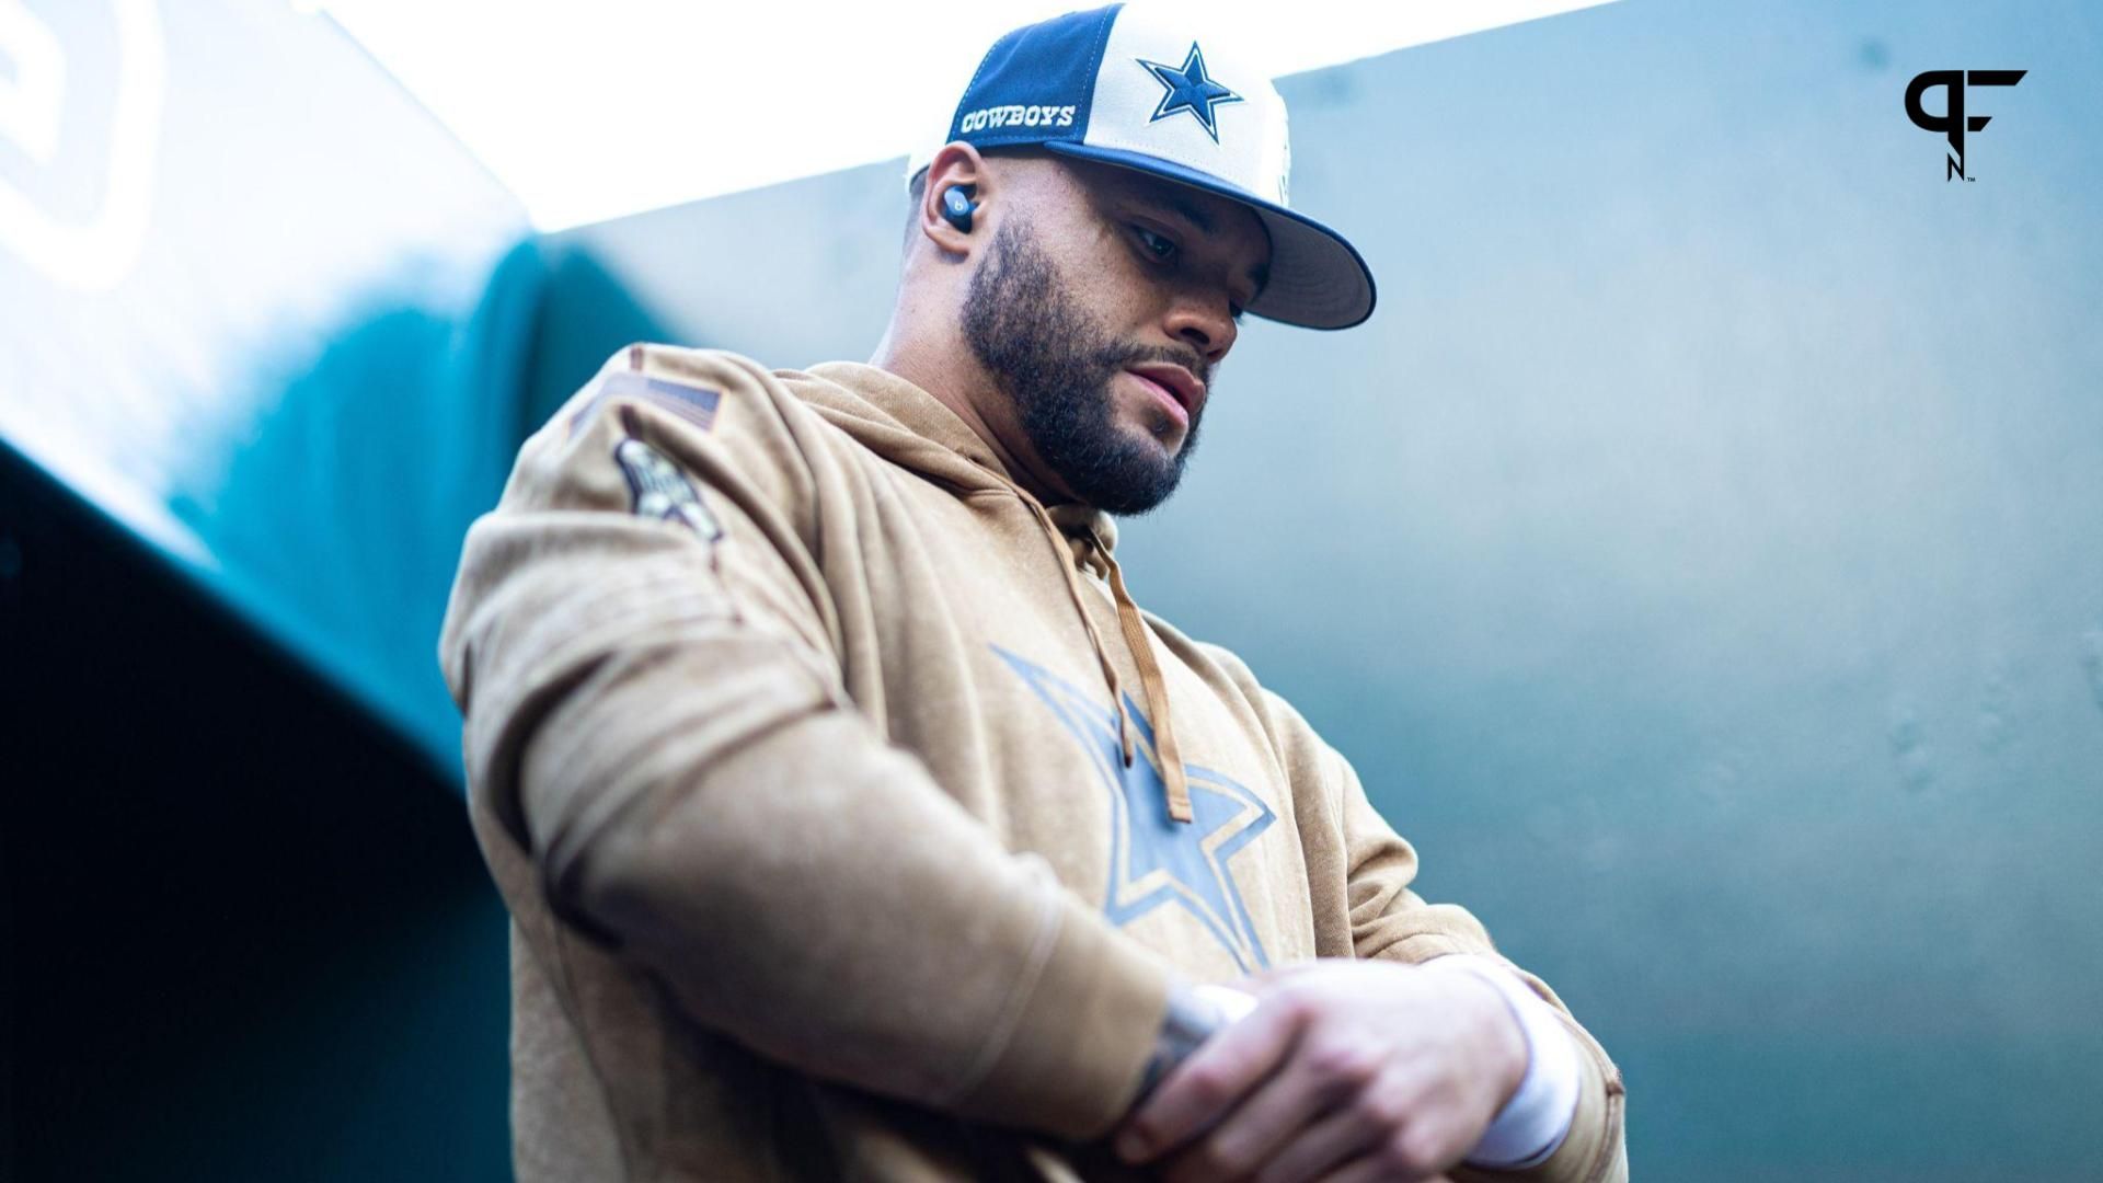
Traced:
<path fill-rule="evenodd" d="M 0 438 L 454 777 L 437 625 L 522 392 L 654 324 L 322 17 L 27 13 L 65 88 L 48 158 L 0 135 Z"/>

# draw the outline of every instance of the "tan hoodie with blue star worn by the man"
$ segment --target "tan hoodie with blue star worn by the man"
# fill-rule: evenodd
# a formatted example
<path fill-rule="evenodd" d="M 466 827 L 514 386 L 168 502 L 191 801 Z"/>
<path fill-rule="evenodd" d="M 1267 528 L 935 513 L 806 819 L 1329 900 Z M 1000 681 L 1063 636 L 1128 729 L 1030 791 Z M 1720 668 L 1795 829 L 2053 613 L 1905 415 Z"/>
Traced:
<path fill-rule="evenodd" d="M 440 642 L 524 1183 L 1112 1179 L 1171 975 L 1495 956 L 1115 545 L 862 364 L 637 345 L 526 440 Z M 1569 1027 L 1575 1124 L 1516 1177 L 1626 1177 Z"/>

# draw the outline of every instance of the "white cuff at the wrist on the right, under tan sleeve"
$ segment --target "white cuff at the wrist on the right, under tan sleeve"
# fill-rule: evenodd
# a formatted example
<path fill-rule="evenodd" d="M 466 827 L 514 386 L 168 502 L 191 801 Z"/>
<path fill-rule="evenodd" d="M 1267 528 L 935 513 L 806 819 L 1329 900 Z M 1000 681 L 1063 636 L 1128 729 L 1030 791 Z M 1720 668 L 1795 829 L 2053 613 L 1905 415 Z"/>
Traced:
<path fill-rule="evenodd" d="M 1520 981 L 1510 968 L 1478 954 L 1447 954 L 1424 962 L 1426 968 L 1472 973 L 1497 987 L 1504 1004 L 1527 1036 L 1527 1076 L 1518 1092 L 1483 1130 L 1483 1141 L 1468 1151 L 1470 1166 L 1518 1170 L 1548 1162 L 1563 1145 L 1577 1116 L 1577 1044 L 1556 1019 L 1556 1008 Z"/>

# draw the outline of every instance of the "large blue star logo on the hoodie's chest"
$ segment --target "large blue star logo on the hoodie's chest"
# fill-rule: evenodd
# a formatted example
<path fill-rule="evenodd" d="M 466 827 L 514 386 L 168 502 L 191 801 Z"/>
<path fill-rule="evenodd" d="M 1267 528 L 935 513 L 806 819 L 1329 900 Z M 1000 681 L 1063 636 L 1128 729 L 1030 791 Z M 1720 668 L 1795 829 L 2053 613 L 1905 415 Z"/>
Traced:
<path fill-rule="evenodd" d="M 1277 821 L 1264 798 L 1211 768 L 1184 764 L 1195 819 L 1190 825 L 1171 821 L 1167 785 L 1155 766 L 1155 728 L 1131 695 L 1125 695 L 1125 707 L 1138 724 L 1140 743 L 1125 768 L 1125 754 L 1117 743 L 1117 711 L 1096 705 L 1064 678 L 997 644 L 993 653 L 1022 676 L 1087 751 L 1096 779 L 1110 796 L 1110 884 L 1102 907 L 1110 924 L 1125 926 L 1157 907 L 1182 907 L 1226 947 L 1243 973 L 1270 966 L 1241 888 L 1226 867 L 1237 850 Z"/>

